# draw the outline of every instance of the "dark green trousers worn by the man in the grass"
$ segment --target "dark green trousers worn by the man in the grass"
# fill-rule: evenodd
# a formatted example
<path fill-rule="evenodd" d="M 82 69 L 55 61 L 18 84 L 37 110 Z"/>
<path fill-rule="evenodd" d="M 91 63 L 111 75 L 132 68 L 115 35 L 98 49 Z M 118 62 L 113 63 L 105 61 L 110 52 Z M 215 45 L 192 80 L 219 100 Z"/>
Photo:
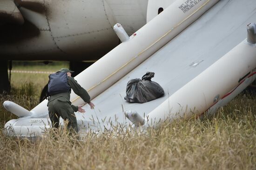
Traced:
<path fill-rule="evenodd" d="M 77 121 L 74 110 L 68 102 L 64 102 L 56 98 L 48 103 L 49 117 L 52 122 L 52 127 L 59 128 L 60 117 L 63 120 L 68 120 L 67 129 L 78 131 Z"/>

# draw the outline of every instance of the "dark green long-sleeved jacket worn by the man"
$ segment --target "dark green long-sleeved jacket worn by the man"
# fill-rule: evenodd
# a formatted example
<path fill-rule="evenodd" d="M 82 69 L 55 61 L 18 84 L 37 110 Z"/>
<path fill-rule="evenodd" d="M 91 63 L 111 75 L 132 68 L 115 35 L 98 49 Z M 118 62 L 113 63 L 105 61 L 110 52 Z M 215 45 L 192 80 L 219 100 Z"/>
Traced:
<path fill-rule="evenodd" d="M 90 103 L 90 96 L 89 96 L 88 92 L 84 88 L 82 88 L 81 85 L 79 85 L 73 77 L 68 77 L 67 83 L 68 83 L 68 85 L 70 85 L 70 87 L 72 88 L 74 93 L 77 94 L 78 96 L 80 96 L 84 100 L 84 102 Z M 54 94 L 53 96 L 50 96 L 47 106 L 49 105 L 49 103 L 51 101 L 55 100 L 56 98 L 58 98 L 58 100 L 60 100 L 62 102 L 68 102 L 71 105 L 70 93 L 71 93 L 71 91 L 58 93 L 58 94 Z M 73 108 L 74 111 L 78 111 L 78 106 L 71 105 L 71 107 Z"/>

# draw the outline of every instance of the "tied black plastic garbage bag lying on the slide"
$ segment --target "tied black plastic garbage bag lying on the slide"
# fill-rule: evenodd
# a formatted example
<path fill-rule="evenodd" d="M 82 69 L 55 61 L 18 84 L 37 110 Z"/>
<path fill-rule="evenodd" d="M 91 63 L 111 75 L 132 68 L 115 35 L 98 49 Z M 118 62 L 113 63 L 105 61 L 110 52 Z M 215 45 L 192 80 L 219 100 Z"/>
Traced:
<path fill-rule="evenodd" d="M 154 76 L 154 72 L 147 72 L 142 80 L 135 78 L 128 81 L 124 99 L 132 103 L 146 103 L 164 95 L 161 85 L 151 81 Z"/>

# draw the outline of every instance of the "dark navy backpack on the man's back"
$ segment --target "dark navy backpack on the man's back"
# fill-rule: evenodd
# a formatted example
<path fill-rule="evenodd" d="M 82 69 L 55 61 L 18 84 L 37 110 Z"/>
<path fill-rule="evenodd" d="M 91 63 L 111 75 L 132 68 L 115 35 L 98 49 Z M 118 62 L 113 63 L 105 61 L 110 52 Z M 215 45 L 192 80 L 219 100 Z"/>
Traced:
<path fill-rule="evenodd" d="M 66 72 L 56 72 L 49 75 L 48 82 L 48 93 L 47 96 L 52 96 L 54 94 L 62 92 L 70 92 L 71 87 L 67 83 L 67 73 Z"/>

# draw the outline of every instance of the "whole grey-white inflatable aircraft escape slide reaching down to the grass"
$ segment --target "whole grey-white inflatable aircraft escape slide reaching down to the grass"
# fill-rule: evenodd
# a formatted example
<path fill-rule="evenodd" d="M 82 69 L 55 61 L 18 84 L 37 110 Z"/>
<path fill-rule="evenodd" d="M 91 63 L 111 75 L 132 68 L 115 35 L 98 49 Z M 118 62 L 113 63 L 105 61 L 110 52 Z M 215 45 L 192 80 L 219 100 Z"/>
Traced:
<path fill-rule="evenodd" d="M 189 7 L 185 7 L 184 4 L 188 2 L 187 0 L 176 0 L 131 37 L 127 37 L 125 33 L 122 33 L 123 30 L 120 25 L 115 26 L 116 32 L 123 42 L 75 77 L 78 83 L 87 89 L 96 106 L 95 111 L 90 111 L 88 106 L 85 105 L 86 114 L 76 113 L 80 126 L 88 128 L 86 124 L 92 122 L 92 117 L 100 119 L 112 118 L 114 120 L 115 115 L 120 118 L 118 122 L 125 123 L 128 120 L 125 119 L 124 112 L 132 109 L 135 111 L 127 111 L 126 116 L 133 124 L 145 127 L 159 127 L 161 121 L 166 118 L 174 120 L 180 117 L 190 118 L 193 114 L 200 116 L 205 111 L 214 112 L 219 106 L 226 104 L 254 81 L 256 78 L 256 28 L 253 25 L 248 26 L 248 39 L 245 40 L 243 40 L 245 34 L 235 37 L 235 31 L 231 33 L 214 33 L 215 30 L 213 28 L 224 26 L 223 23 L 225 23 L 225 21 L 218 20 L 220 17 L 225 18 L 224 15 L 217 15 L 217 13 L 229 13 L 231 11 L 230 15 L 233 15 L 234 12 L 232 11 L 236 11 L 234 8 L 243 8 L 241 4 L 242 6 L 244 4 L 245 7 L 250 7 L 252 6 L 251 4 L 256 6 L 256 2 L 254 0 L 247 0 L 246 2 L 233 0 L 234 4 L 231 3 L 227 7 L 227 1 L 225 0 L 219 3 L 217 3 L 218 0 L 195 1 L 197 3 L 193 4 L 193 6 L 190 4 Z M 193 2 L 189 1 L 189 3 Z M 237 6 L 237 4 L 240 4 L 240 6 Z M 208 13 L 202 16 L 214 5 L 218 7 L 211 9 L 208 16 Z M 252 20 L 251 18 L 256 16 L 255 13 L 251 13 L 253 9 L 242 9 L 242 11 L 244 15 L 241 15 L 241 19 L 236 19 L 236 22 L 229 24 L 233 24 L 233 26 L 239 25 L 237 26 L 239 31 L 246 29 L 246 24 L 241 24 L 242 22 Z M 214 16 L 216 18 L 219 16 L 219 18 L 214 19 Z M 251 18 L 247 18 L 248 16 Z M 200 20 L 196 21 L 199 17 L 201 17 Z M 210 25 L 210 23 L 205 23 L 205 20 L 213 20 L 213 23 L 215 21 L 218 25 L 212 25 L 212 29 L 207 30 L 204 27 L 207 24 Z M 196 22 L 192 24 L 194 21 Z M 188 26 L 189 28 L 186 29 Z M 190 32 L 195 30 L 201 30 L 202 32 Z M 227 28 L 226 30 L 229 29 Z M 206 32 L 216 34 L 216 40 L 208 39 L 208 34 L 204 34 Z M 181 34 L 177 36 L 179 33 Z M 218 34 L 223 34 L 226 39 L 231 41 L 223 45 L 225 40 L 223 40 L 223 37 L 219 38 Z M 197 38 L 197 35 L 199 38 Z M 175 38 L 175 36 L 177 37 Z M 186 39 L 186 36 L 191 39 Z M 196 44 L 191 45 L 192 40 L 196 41 L 202 37 L 206 39 L 206 42 L 201 46 L 202 53 L 200 53 L 200 50 L 195 52 L 192 47 L 195 48 Z M 216 47 L 218 38 L 220 39 L 219 44 L 223 46 Z M 171 39 L 173 40 L 170 41 Z M 186 41 L 183 39 L 186 39 Z M 240 44 L 237 45 L 238 43 Z M 212 45 L 210 49 L 207 49 L 209 48 L 207 47 L 208 44 L 209 46 Z M 188 48 L 192 46 L 191 58 L 184 58 L 181 54 L 175 55 L 177 53 L 175 48 L 178 49 L 180 46 L 184 47 L 186 45 Z M 211 51 L 212 47 L 216 51 Z M 219 48 L 221 50 L 218 51 Z M 205 51 L 209 53 L 203 53 Z M 168 56 L 168 52 L 172 55 L 169 54 Z M 181 51 L 179 52 L 181 53 Z M 165 58 L 161 59 L 161 55 L 165 55 Z M 208 56 L 212 58 L 207 58 Z M 183 59 L 187 59 L 188 62 L 194 62 L 189 65 Z M 158 61 L 160 63 L 157 63 Z M 165 62 L 170 63 L 170 61 L 174 63 L 172 68 L 161 68 Z M 188 69 L 194 70 L 190 72 Z M 126 83 L 129 79 L 140 78 L 147 71 L 159 71 L 155 72 L 155 78 L 159 77 L 159 81 L 156 79 L 153 79 L 153 81 L 162 85 L 167 95 L 145 104 L 124 104 L 124 96 L 119 92 L 122 91 L 122 94 L 125 92 Z M 169 78 L 172 79 L 168 79 L 166 75 L 161 76 L 160 72 L 170 74 Z M 182 78 L 176 78 L 177 76 L 174 75 L 184 75 L 185 72 L 186 76 L 182 77 L 183 80 L 181 80 Z M 164 84 L 164 82 L 166 83 Z M 76 96 L 74 92 L 71 93 L 71 101 L 73 105 L 84 104 L 82 99 Z M 21 117 L 7 122 L 5 126 L 6 128 L 11 126 L 16 135 L 31 136 L 32 133 L 40 135 L 43 132 L 42 129 L 49 127 L 47 123 L 47 100 L 44 100 L 31 111 L 27 111 L 11 102 L 5 102 L 4 105 L 8 111 Z M 125 108 L 122 108 L 123 105 L 126 105 Z M 100 122 L 99 124 L 101 125 Z M 98 126 L 95 127 L 95 130 L 97 129 L 99 129 Z"/>

